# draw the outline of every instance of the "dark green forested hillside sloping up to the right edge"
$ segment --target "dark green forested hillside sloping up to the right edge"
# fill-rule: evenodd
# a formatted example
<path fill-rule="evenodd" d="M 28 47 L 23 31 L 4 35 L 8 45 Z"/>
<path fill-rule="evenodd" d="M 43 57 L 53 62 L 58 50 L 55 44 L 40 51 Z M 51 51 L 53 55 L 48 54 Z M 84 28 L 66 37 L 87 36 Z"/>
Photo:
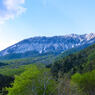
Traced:
<path fill-rule="evenodd" d="M 54 75 L 60 71 L 64 73 L 88 72 L 95 69 L 95 44 L 81 50 L 80 52 L 71 54 L 67 57 L 58 59 L 52 66 Z"/>

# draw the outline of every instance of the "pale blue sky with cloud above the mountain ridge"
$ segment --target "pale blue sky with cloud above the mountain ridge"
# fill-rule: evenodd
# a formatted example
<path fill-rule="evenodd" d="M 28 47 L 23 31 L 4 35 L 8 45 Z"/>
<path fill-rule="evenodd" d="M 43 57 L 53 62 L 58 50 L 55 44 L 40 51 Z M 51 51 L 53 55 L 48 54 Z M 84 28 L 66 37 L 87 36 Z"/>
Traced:
<path fill-rule="evenodd" d="M 95 0 L 0 0 L 0 50 L 33 36 L 95 33 Z"/>

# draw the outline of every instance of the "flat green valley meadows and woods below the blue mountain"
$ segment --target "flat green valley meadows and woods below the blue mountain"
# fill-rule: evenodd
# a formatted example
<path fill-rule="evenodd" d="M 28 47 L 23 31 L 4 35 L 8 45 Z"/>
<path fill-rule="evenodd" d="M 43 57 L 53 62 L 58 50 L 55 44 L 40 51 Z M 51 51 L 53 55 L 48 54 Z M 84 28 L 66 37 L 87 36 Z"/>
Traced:
<path fill-rule="evenodd" d="M 39 64 L 42 63 L 44 65 L 51 64 L 54 61 L 54 55 L 46 54 L 36 57 L 23 58 L 23 59 L 15 59 L 15 60 L 3 60 L 3 67 L 0 68 L 0 74 L 7 76 L 19 75 L 24 72 L 26 67 L 30 64 Z M 7 63 L 7 65 L 5 65 Z M 2 65 L 2 64 L 1 64 Z"/>

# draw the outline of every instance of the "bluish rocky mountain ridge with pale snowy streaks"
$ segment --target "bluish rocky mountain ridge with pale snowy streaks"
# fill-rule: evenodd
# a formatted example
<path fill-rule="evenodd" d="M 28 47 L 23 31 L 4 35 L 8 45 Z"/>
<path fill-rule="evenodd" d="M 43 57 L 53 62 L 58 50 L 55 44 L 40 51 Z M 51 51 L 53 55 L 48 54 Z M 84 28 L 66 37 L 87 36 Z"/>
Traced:
<path fill-rule="evenodd" d="M 25 39 L 0 52 L 0 56 L 13 53 L 36 51 L 38 53 L 64 52 L 65 50 L 95 43 L 95 34 L 70 34 L 53 37 L 33 37 Z"/>

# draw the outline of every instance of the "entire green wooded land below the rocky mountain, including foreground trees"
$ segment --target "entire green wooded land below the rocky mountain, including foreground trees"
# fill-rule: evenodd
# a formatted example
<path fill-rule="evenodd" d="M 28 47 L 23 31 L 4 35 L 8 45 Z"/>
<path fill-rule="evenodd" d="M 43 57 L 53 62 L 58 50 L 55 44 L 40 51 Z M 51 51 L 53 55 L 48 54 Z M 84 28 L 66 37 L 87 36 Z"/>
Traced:
<path fill-rule="evenodd" d="M 95 44 L 51 64 L 30 59 L 1 61 L 0 95 L 95 95 Z"/>

